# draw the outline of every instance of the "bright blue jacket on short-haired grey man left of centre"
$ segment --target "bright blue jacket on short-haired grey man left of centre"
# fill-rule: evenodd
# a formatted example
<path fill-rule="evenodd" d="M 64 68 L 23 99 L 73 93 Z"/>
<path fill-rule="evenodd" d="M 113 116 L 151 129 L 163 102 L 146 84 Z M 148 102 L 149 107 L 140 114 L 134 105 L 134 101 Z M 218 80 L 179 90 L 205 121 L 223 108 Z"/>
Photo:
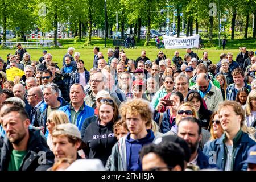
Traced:
<path fill-rule="evenodd" d="M 69 122 L 71 122 L 71 104 L 60 107 L 59 110 L 64 111 L 68 115 Z M 84 123 L 85 119 L 94 115 L 94 109 L 92 107 L 86 106 L 84 102 L 84 110 L 77 116 L 76 126 L 79 128 L 79 131 L 82 128 L 82 123 Z"/>

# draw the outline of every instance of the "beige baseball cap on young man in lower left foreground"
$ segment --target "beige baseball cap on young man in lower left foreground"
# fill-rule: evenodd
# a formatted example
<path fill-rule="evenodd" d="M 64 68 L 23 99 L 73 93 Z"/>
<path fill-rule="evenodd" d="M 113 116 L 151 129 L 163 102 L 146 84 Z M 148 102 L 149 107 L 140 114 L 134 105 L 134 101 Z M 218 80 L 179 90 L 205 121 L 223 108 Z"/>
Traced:
<path fill-rule="evenodd" d="M 71 123 L 65 123 L 55 126 L 52 135 L 70 135 L 82 139 L 78 127 Z"/>

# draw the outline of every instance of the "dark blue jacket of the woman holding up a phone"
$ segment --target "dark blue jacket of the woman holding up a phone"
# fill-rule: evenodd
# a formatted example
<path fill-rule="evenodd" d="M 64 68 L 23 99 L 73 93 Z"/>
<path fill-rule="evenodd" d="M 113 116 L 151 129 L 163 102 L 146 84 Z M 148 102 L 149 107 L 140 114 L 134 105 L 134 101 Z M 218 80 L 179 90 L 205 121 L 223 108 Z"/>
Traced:
<path fill-rule="evenodd" d="M 160 119 L 160 113 L 158 111 L 155 111 L 154 113 L 154 121 L 156 123 L 159 123 Z M 171 130 L 172 126 L 175 125 L 175 118 L 173 118 L 172 124 L 170 123 L 170 109 L 167 109 L 163 113 L 162 123 L 160 125 L 160 132 L 161 133 L 167 133 Z"/>

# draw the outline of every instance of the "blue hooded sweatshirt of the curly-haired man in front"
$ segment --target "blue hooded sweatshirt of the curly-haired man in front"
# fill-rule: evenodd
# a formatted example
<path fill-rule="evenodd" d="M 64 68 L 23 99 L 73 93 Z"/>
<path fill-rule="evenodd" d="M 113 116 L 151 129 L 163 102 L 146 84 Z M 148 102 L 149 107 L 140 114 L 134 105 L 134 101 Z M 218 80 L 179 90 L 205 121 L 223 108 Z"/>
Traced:
<path fill-rule="evenodd" d="M 142 171 L 141 160 L 139 159 L 139 151 L 144 144 L 152 143 L 155 136 L 152 130 L 147 130 L 147 135 L 144 138 L 134 140 L 131 134 L 128 133 L 126 137 L 126 161 L 127 171 Z"/>

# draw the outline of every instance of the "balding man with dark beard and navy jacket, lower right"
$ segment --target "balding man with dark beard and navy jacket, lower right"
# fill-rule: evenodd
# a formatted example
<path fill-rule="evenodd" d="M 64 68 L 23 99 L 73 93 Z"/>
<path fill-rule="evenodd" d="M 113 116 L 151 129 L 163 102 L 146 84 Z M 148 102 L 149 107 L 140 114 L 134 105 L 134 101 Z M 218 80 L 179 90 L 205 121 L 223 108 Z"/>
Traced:
<path fill-rule="evenodd" d="M 199 148 L 199 142 L 202 138 L 201 122 L 196 118 L 186 117 L 181 119 L 177 125 L 177 135 L 188 143 L 191 150 L 189 163 L 199 166 L 200 169 L 215 168 L 216 165 L 209 164 L 209 158 Z"/>

